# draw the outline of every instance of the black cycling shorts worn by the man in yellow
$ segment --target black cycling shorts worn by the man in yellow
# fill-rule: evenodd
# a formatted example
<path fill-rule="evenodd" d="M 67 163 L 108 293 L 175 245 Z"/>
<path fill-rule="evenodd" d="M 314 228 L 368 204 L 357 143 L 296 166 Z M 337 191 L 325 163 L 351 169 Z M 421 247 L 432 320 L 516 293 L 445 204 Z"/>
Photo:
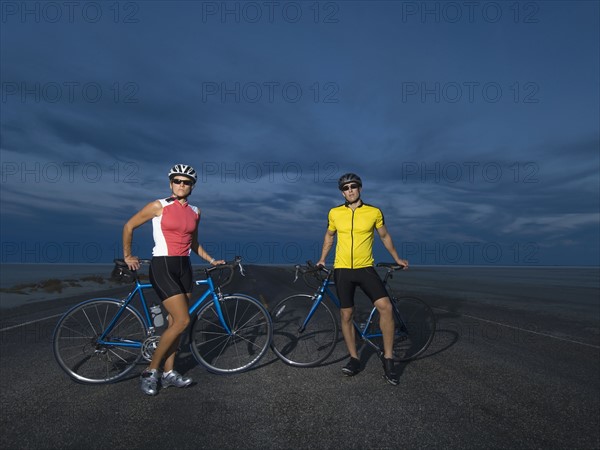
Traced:
<path fill-rule="evenodd" d="M 342 308 L 354 307 L 354 292 L 357 286 L 367 294 L 372 303 L 380 298 L 388 297 L 383 281 L 377 275 L 374 267 L 335 269 L 333 278 Z"/>

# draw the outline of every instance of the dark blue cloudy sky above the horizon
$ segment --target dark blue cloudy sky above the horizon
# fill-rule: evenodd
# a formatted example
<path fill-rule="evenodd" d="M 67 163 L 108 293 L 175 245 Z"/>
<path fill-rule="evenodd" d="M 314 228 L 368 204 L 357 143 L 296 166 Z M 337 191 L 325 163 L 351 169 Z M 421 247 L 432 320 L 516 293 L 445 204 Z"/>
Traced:
<path fill-rule="evenodd" d="M 353 171 L 413 264 L 599 264 L 596 1 L 1 5 L 2 262 L 121 256 L 182 162 L 217 257 L 318 259 Z"/>

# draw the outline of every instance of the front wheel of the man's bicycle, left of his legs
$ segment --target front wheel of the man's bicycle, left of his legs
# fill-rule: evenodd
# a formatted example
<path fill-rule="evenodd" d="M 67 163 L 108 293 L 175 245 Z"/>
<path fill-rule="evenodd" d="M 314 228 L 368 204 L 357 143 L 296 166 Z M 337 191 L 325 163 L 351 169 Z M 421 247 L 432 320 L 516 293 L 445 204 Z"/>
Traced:
<path fill-rule="evenodd" d="M 337 321 L 323 302 L 302 329 L 314 303 L 313 296 L 297 294 L 280 301 L 273 308 L 271 347 L 283 362 L 291 366 L 316 366 L 331 355 L 337 342 Z"/>

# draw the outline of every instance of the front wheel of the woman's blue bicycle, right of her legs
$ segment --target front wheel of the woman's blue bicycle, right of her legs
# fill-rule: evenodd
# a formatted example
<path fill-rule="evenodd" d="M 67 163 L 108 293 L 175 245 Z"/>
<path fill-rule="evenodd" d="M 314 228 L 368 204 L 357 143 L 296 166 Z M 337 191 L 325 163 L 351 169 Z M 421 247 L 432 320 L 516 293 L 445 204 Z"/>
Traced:
<path fill-rule="evenodd" d="M 243 372 L 269 348 L 271 317 L 258 300 L 242 294 L 225 296 L 219 304 L 231 333 L 221 324 L 214 302 L 207 303 L 191 327 L 192 354 L 210 372 Z"/>

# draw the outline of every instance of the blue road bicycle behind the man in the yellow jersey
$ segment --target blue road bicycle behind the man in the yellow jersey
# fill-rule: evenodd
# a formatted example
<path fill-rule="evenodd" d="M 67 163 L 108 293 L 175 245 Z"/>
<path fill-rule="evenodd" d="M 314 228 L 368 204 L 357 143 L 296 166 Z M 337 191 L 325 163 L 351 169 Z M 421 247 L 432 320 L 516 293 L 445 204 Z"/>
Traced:
<path fill-rule="evenodd" d="M 390 290 L 388 280 L 402 266 L 379 263 L 386 269 L 383 284 L 392 301 L 395 320 L 394 359 L 409 361 L 421 355 L 435 334 L 435 315 L 431 308 L 416 297 L 399 297 Z M 333 270 L 325 267 L 296 266 L 307 285 L 315 288 L 312 295 L 295 294 L 281 300 L 271 312 L 273 319 L 272 348 L 285 363 L 296 367 L 313 367 L 323 362 L 333 352 L 338 340 L 338 324 L 325 297 L 340 307 L 340 301 L 331 291 Z M 314 278 L 316 277 L 316 283 Z M 355 313 L 356 316 L 356 313 Z M 383 338 L 379 329 L 379 313 L 373 308 L 367 317 L 354 321 L 357 336 L 362 338 L 376 353 L 383 355 Z"/>

